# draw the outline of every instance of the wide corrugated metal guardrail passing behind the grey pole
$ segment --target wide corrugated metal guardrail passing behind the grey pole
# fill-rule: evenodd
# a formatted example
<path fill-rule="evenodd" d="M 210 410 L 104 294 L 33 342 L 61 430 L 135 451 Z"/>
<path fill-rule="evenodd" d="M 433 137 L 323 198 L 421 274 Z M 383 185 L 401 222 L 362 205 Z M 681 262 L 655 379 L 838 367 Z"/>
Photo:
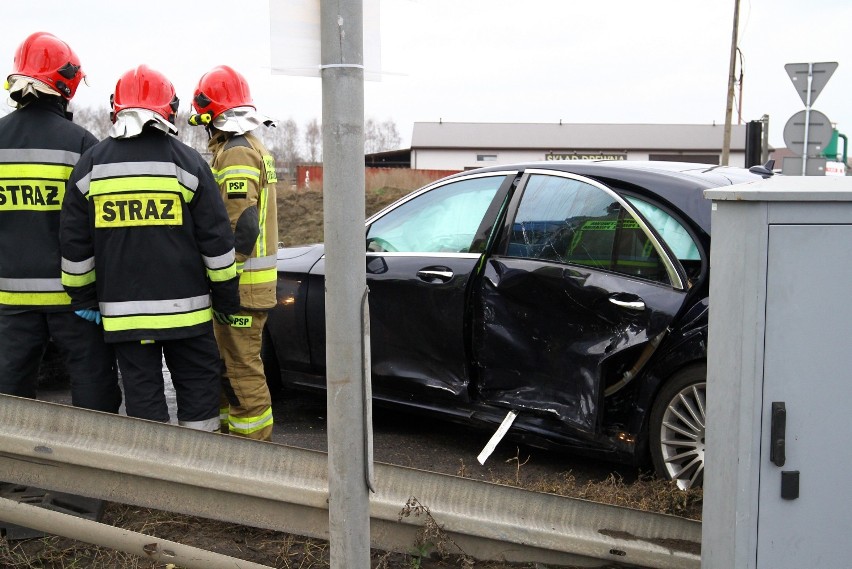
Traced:
<path fill-rule="evenodd" d="M 371 546 L 424 516 L 481 560 L 699 569 L 699 522 L 377 463 Z M 0 480 L 328 539 L 325 453 L 0 396 Z"/>

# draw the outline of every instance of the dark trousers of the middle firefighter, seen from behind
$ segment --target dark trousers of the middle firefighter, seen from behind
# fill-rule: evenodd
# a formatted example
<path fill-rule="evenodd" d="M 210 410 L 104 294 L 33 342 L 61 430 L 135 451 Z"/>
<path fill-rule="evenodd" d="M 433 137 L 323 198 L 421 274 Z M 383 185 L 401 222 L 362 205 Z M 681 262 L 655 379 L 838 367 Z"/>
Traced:
<path fill-rule="evenodd" d="M 179 340 L 114 344 L 128 417 L 169 421 L 163 359 L 171 373 L 178 424 L 200 431 L 219 430 L 221 362 L 212 330 Z"/>

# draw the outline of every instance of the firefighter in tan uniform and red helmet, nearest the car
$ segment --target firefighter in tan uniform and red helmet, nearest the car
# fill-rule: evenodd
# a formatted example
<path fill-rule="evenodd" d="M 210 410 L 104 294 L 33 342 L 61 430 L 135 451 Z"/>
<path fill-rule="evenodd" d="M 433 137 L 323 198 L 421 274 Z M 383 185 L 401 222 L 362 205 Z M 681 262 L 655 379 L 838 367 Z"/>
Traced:
<path fill-rule="evenodd" d="M 274 126 L 257 112 L 245 78 L 215 67 L 198 82 L 193 125 L 204 125 L 211 168 L 231 219 L 240 311 L 231 324 L 214 324 L 224 361 L 222 431 L 257 440 L 272 437 L 272 400 L 260 358 L 267 311 L 275 306 L 278 214 L 275 161 L 252 131 Z"/>

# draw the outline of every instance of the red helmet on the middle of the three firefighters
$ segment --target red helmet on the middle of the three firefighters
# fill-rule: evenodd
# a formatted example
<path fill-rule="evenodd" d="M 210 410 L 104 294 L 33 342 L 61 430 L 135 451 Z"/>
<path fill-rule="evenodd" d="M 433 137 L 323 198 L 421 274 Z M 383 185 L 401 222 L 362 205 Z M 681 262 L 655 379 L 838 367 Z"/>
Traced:
<path fill-rule="evenodd" d="M 115 94 L 110 96 L 109 102 L 113 122 L 124 109 L 148 109 L 174 123 L 178 110 L 178 98 L 172 82 L 147 65 L 125 72 L 115 84 Z"/>

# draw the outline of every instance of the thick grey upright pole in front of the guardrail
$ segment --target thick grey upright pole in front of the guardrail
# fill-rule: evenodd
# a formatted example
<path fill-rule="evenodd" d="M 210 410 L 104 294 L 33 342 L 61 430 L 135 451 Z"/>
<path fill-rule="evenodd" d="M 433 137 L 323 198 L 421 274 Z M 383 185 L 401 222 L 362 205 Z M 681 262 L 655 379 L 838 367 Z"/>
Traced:
<path fill-rule="evenodd" d="M 361 332 L 367 282 L 362 4 L 320 3 L 331 569 L 370 567 Z"/>

